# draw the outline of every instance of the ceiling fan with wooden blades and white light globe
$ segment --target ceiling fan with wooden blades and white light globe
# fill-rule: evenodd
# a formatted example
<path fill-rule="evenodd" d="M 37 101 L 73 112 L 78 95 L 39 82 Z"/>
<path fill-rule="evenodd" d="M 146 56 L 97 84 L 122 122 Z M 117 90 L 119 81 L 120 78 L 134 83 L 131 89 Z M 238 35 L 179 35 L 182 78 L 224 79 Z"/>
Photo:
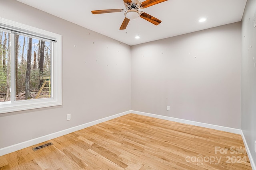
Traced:
<path fill-rule="evenodd" d="M 147 20 L 154 25 L 158 25 L 161 23 L 161 20 L 158 20 L 157 18 L 145 13 L 140 12 L 138 9 L 144 9 L 148 8 L 149 6 L 159 4 L 161 2 L 164 2 L 167 0 L 145 0 L 141 2 L 141 0 L 124 0 L 124 5 L 126 8 L 126 11 L 123 9 L 110 9 L 110 10 L 95 10 L 92 11 L 92 14 L 104 14 L 104 13 L 112 13 L 112 12 L 124 12 L 124 21 L 120 27 L 120 29 L 126 29 L 128 23 L 130 20 L 134 20 L 138 17 L 143 18 L 144 20 Z"/>

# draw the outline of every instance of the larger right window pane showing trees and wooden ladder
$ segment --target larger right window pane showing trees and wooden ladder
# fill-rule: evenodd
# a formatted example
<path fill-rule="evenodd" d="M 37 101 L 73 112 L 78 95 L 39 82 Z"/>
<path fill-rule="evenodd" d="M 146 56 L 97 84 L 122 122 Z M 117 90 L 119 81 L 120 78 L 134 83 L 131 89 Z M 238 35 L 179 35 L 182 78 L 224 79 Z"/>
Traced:
<path fill-rule="evenodd" d="M 16 100 L 51 98 L 52 42 L 15 35 Z"/>

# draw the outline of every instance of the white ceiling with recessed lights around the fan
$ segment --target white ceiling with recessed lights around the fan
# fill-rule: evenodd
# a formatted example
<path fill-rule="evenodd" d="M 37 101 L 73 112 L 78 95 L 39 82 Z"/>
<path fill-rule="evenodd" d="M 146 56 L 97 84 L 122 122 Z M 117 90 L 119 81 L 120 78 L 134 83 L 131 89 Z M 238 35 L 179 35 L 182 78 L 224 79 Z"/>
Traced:
<path fill-rule="evenodd" d="M 154 25 L 139 18 L 119 30 L 124 12 L 92 14 L 92 10 L 125 9 L 123 0 L 17 0 L 44 12 L 86 27 L 122 43 L 137 45 L 167 37 L 241 21 L 246 0 L 167 0 L 139 9 L 162 20 Z M 144 0 L 142 0 L 144 1 Z M 208 18 L 204 23 L 200 18 Z M 127 33 L 126 33 L 127 31 Z"/>

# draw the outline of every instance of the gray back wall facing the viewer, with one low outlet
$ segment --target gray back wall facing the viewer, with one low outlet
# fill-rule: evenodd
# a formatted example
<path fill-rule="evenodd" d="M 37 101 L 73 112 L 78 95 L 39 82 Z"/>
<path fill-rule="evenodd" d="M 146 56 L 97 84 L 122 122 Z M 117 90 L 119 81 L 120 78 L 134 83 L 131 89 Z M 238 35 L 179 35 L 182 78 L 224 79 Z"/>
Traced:
<path fill-rule="evenodd" d="M 241 22 L 132 46 L 132 110 L 240 129 L 240 72 Z"/>

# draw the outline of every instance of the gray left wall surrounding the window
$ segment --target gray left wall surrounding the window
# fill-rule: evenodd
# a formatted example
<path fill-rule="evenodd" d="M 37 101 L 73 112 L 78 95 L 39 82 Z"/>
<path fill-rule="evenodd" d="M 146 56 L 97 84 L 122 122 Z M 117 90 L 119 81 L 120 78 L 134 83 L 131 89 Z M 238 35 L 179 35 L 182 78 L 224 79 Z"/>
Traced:
<path fill-rule="evenodd" d="M 62 35 L 63 69 L 63 105 L 0 114 L 0 148 L 131 109 L 129 45 L 16 0 L 0 0 L 0 17 Z"/>

